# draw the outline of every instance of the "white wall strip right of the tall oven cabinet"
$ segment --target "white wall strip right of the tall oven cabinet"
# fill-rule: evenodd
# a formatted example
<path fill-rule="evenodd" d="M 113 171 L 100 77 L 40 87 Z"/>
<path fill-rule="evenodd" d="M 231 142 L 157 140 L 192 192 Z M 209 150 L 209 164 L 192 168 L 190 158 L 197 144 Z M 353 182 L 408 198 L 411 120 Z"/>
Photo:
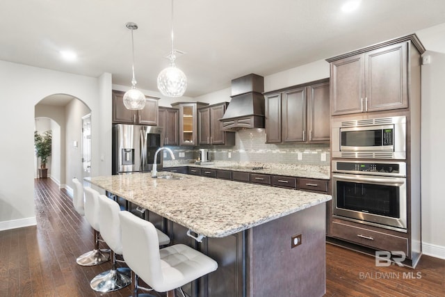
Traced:
<path fill-rule="evenodd" d="M 431 58 L 422 65 L 422 246 L 426 255 L 445 259 L 445 24 L 417 35 Z"/>

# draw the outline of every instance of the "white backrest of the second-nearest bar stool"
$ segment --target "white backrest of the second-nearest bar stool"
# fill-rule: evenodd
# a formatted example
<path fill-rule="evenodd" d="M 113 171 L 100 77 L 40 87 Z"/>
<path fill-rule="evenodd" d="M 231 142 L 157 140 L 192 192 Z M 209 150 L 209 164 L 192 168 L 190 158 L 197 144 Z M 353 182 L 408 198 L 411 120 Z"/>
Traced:
<path fill-rule="evenodd" d="M 99 195 L 99 225 L 100 235 L 109 248 L 122 255 L 122 240 L 120 238 L 120 206 L 106 195 Z"/>

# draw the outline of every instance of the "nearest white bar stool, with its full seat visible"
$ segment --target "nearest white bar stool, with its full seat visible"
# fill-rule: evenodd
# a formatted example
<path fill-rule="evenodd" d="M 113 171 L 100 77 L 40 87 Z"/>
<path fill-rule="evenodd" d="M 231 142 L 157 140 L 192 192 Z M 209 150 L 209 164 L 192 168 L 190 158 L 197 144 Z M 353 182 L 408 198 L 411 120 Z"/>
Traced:
<path fill-rule="evenodd" d="M 174 297 L 175 289 L 218 268 L 215 260 L 184 244 L 159 249 L 152 223 L 129 211 L 120 211 L 119 216 L 124 259 L 136 274 L 131 288 L 133 297 L 138 296 L 138 289 L 145 289 L 138 286 L 138 277 L 155 291 L 166 291 L 167 297 Z"/>

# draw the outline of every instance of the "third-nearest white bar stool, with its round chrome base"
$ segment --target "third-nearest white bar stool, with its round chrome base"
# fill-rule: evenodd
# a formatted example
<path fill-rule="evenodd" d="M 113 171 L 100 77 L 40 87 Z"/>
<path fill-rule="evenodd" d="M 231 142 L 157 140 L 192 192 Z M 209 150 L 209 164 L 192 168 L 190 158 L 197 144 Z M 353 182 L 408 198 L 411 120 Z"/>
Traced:
<path fill-rule="evenodd" d="M 108 252 L 99 249 L 99 192 L 90 187 L 84 188 L 85 191 L 85 218 L 90 223 L 94 232 L 95 248 L 79 256 L 76 259 L 77 264 L 81 266 L 93 266 L 107 262 L 110 259 Z"/>

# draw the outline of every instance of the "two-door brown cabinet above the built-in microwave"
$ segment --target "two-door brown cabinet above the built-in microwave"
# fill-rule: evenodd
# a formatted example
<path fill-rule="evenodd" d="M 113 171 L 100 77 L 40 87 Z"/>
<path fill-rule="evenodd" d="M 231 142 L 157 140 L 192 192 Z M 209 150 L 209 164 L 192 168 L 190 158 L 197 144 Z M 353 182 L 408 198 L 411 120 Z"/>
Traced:
<path fill-rule="evenodd" d="M 331 114 L 367 113 L 409 107 L 410 67 L 419 65 L 416 35 L 327 59 Z"/>

